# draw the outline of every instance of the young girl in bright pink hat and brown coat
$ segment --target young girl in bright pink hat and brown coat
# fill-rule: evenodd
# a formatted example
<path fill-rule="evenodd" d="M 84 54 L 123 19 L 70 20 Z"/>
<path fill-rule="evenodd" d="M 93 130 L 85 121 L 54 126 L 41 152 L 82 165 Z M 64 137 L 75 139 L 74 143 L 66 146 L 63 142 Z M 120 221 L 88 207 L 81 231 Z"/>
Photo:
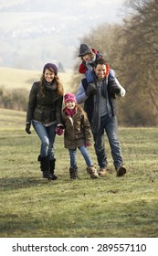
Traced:
<path fill-rule="evenodd" d="M 78 178 L 77 148 L 79 148 L 86 161 L 87 172 L 90 177 L 97 178 L 99 175 L 93 166 L 87 149 L 87 146 L 90 146 L 90 123 L 86 112 L 77 104 L 73 93 L 65 94 L 64 101 L 66 105 L 63 110 L 64 144 L 68 148 L 70 156 L 70 178 Z"/>

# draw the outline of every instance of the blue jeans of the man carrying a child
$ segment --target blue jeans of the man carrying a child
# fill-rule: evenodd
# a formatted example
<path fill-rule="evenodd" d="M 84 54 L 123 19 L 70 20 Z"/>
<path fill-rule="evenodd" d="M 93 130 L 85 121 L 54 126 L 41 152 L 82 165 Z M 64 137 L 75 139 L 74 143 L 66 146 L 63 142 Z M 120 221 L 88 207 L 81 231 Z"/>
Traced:
<path fill-rule="evenodd" d="M 108 114 L 100 118 L 100 131 L 93 133 L 94 148 L 98 158 L 100 168 L 107 167 L 107 155 L 104 144 L 104 130 L 107 133 L 108 140 L 111 146 L 111 155 L 113 158 L 113 165 L 117 169 L 123 164 L 121 156 L 121 144 L 118 139 L 118 123 L 117 117 L 110 117 Z"/>

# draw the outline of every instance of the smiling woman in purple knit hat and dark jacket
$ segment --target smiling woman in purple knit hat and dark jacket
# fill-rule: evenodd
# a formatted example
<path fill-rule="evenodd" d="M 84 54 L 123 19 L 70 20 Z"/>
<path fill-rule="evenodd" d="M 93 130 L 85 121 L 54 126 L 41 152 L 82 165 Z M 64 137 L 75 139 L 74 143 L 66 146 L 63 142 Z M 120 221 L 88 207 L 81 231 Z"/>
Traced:
<path fill-rule="evenodd" d="M 34 82 L 29 94 L 26 112 L 26 133 L 30 134 L 31 123 L 41 141 L 38 161 L 43 177 L 57 179 L 55 170 L 54 142 L 56 128 L 61 124 L 63 89 L 58 78 L 58 68 L 47 63 L 40 81 Z"/>

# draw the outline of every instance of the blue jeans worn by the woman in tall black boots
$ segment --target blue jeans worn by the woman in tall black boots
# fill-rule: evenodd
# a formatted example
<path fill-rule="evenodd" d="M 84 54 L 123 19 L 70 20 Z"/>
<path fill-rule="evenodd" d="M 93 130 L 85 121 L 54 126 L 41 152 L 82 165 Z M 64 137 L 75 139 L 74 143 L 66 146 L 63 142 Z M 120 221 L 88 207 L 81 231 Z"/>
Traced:
<path fill-rule="evenodd" d="M 48 156 L 49 160 L 53 160 L 55 154 L 54 142 L 56 137 L 56 124 L 46 127 L 42 123 L 32 121 L 32 125 L 41 141 L 40 156 Z"/>

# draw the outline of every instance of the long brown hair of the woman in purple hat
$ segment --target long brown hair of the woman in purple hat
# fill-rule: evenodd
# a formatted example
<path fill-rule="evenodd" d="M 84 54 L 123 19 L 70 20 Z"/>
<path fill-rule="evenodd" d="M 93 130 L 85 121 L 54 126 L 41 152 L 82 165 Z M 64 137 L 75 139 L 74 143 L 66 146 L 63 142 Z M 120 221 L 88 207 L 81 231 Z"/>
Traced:
<path fill-rule="evenodd" d="M 49 69 L 51 72 L 54 72 L 53 69 Z M 45 95 L 45 85 L 43 83 L 43 80 L 45 79 L 45 74 L 43 73 L 42 76 L 41 76 L 41 79 L 39 81 L 39 89 L 42 93 L 42 95 Z M 63 96 L 63 87 L 62 87 L 62 84 L 59 80 L 59 77 L 58 75 L 55 74 L 54 76 L 54 80 L 53 80 L 53 84 L 56 84 L 57 85 L 57 90 L 58 90 L 58 95 L 59 96 Z"/>

